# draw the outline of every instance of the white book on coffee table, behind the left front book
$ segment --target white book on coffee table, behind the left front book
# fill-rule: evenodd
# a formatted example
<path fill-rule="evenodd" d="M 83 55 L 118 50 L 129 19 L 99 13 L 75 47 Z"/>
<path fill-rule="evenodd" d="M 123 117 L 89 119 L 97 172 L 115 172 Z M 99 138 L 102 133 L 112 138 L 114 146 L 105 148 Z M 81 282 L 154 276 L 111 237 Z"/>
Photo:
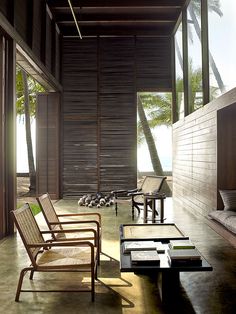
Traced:
<path fill-rule="evenodd" d="M 156 250 L 157 253 L 165 253 L 165 247 L 161 242 L 155 241 L 132 241 L 124 242 L 123 252 L 130 253 L 131 251 L 150 251 Z"/>

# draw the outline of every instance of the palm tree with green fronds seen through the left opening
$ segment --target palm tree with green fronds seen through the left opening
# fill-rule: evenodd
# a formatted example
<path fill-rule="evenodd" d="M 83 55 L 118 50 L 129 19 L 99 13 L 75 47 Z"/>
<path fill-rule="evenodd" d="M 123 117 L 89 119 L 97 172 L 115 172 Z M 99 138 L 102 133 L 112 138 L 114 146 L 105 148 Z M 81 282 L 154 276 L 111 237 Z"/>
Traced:
<path fill-rule="evenodd" d="M 16 108 L 17 114 L 24 117 L 25 134 L 28 152 L 29 165 L 29 194 L 34 195 L 36 192 L 36 172 L 34 165 L 32 136 L 31 136 L 31 118 L 35 117 L 36 108 L 36 92 L 44 91 L 42 86 L 31 77 L 27 76 L 26 72 L 17 67 L 16 70 Z"/>

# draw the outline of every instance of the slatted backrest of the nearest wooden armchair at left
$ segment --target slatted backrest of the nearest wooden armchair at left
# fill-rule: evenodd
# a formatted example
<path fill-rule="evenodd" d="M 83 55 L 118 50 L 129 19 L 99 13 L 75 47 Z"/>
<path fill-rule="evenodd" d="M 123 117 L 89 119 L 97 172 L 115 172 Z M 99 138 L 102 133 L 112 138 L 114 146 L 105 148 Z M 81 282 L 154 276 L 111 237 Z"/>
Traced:
<path fill-rule="evenodd" d="M 11 213 L 31 262 L 35 265 L 35 258 L 41 248 L 30 248 L 29 245 L 45 243 L 45 240 L 40 232 L 31 208 L 29 204 L 26 203 L 22 207 L 13 210 Z"/>

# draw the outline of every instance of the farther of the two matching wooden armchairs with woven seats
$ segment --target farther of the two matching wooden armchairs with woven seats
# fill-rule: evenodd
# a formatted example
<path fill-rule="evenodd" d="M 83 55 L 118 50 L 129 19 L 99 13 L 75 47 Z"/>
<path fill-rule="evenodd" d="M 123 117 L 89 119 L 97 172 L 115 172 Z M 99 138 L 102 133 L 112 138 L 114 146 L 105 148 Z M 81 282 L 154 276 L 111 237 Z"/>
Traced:
<path fill-rule="evenodd" d="M 100 253 L 101 253 L 101 234 L 102 234 L 102 228 L 101 228 L 101 215 L 99 213 L 67 213 L 67 214 L 57 214 L 53 203 L 51 201 L 50 195 L 48 193 L 45 193 L 41 195 L 40 197 L 36 198 L 38 201 L 38 204 L 42 210 L 42 213 L 44 215 L 44 218 L 46 220 L 46 223 L 48 225 L 48 228 L 52 231 L 57 230 L 66 230 L 69 228 L 74 228 L 74 226 L 79 228 L 90 228 L 96 230 L 96 233 L 98 235 L 97 237 L 97 243 L 94 243 L 95 246 L 98 248 L 98 258 L 100 261 Z M 87 219 L 88 218 L 88 219 Z M 63 220 L 64 219 L 64 220 Z M 89 236 L 88 233 L 84 235 L 83 233 L 80 233 L 79 235 L 76 233 L 53 233 L 53 240 L 72 240 L 74 237 L 81 238 L 83 241 L 87 240 L 93 240 L 93 234 Z M 98 261 L 98 262 L 99 262 Z"/>

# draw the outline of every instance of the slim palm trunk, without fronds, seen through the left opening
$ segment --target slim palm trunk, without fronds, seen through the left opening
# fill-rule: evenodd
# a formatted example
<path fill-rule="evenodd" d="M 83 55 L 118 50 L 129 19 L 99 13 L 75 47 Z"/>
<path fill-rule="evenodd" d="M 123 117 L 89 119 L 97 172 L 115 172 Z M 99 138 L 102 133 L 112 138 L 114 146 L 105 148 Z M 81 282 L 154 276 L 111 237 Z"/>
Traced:
<path fill-rule="evenodd" d="M 28 164 L 29 164 L 29 178 L 30 178 L 29 193 L 30 195 L 35 195 L 36 172 L 35 172 L 35 166 L 34 166 L 33 146 L 32 146 L 32 137 L 31 137 L 29 90 L 28 90 L 27 75 L 23 70 L 21 71 L 21 73 L 22 73 L 22 79 L 23 79 L 24 99 L 25 99 L 25 134 L 26 134 L 26 144 L 27 144 L 27 152 L 28 152 Z"/>

